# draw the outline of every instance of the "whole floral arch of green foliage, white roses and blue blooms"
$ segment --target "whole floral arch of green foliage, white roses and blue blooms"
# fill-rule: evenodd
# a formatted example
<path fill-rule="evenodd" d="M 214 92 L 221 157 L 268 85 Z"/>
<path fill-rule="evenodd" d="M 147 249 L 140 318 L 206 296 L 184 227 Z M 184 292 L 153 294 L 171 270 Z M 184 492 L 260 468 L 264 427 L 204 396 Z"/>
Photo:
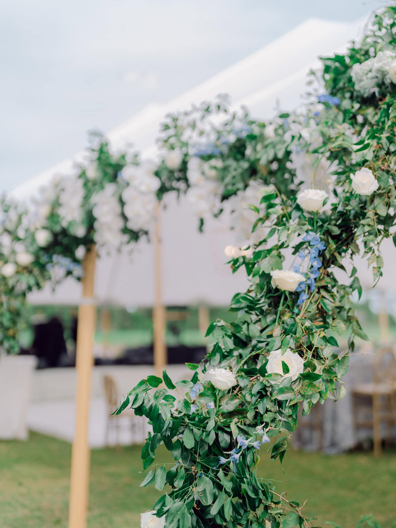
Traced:
<path fill-rule="evenodd" d="M 175 458 L 169 469 L 153 466 L 142 483 L 169 485 L 143 516 L 144 528 L 313 525 L 298 503 L 257 477 L 258 450 L 269 444 L 271 458 L 282 461 L 299 407 L 309 413 L 343 397 L 354 337 L 365 338 L 350 299 L 361 294 L 356 269 L 348 284 L 334 270 L 362 253 L 379 280 L 380 243 L 393 235 L 395 15 L 385 8 L 359 44 L 324 58 L 325 95 L 312 89 L 292 114 L 265 124 L 242 112 L 217 126 L 213 114 L 227 113 L 220 100 L 169 117 L 158 165 L 114 156 L 101 141 L 92 163 L 55 181 L 32 210 L 3 203 L 0 339 L 10 352 L 26 293 L 58 264 L 64 275 L 80 275 L 94 244 L 138 240 L 165 193 L 186 193 L 201 228 L 226 201 L 235 211 L 241 243 L 227 253 L 250 277 L 248 291 L 231 301 L 235 322 L 209 326 L 214 344 L 201 365 L 187 365 L 191 380 L 148 376 L 116 411 L 131 407 L 152 423 L 144 468 L 161 442 Z M 287 251 L 293 270 L 282 269 Z M 344 331 L 349 350 L 338 354 L 335 335 Z M 176 388 L 177 401 L 169 392 Z"/>

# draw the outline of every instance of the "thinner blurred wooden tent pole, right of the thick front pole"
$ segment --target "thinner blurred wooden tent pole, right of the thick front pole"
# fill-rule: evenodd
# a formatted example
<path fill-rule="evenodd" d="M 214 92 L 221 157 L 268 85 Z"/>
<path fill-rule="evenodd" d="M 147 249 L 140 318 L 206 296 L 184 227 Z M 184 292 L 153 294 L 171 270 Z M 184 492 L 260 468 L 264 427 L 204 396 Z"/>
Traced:
<path fill-rule="evenodd" d="M 162 251 L 160 206 L 157 205 L 156 224 L 154 232 L 154 266 L 155 266 L 155 306 L 153 312 L 154 325 L 154 370 L 157 376 L 162 376 L 162 371 L 167 364 L 167 351 L 165 343 L 166 309 L 162 300 Z"/>

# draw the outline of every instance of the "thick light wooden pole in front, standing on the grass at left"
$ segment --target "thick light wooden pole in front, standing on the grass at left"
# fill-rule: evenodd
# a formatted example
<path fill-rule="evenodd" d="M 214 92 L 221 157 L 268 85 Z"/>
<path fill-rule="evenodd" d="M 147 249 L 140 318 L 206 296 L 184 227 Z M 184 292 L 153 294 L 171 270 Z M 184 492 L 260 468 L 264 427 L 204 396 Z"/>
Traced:
<path fill-rule="evenodd" d="M 69 528 L 85 528 L 87 525 L 90 458 L 88 418 L 93 364 L 92 344 L 96 325 L 96 306 L 93 301 L 95 261 L 96 249 L 93 246 L 83 262 L 83 301 L 78 310 L 76 429 L 71 455 Z"/>

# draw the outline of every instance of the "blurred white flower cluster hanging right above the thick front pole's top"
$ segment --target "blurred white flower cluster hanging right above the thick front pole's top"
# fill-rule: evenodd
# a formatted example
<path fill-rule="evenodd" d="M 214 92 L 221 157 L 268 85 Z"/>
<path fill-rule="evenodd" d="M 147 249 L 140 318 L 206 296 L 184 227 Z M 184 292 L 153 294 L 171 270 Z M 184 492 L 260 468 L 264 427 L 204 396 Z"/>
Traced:
<path fill-rule="evenodd" d="M 99 247 L 118 249 L 126 242 L 126 235 L 121 232 L 124 228 L 121 202 L 116 183 L 107 183 L 102 191 L 91 198 L 92 214 L 96 220 L 95 242 Z"/>

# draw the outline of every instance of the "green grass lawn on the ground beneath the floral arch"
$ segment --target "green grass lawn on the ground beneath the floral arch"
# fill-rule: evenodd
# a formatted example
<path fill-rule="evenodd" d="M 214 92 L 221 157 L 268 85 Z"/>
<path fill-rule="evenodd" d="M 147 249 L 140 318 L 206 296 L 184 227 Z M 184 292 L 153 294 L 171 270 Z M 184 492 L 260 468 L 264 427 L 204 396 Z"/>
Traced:
<path fill-rule="evenodd" d="M 67 528 L 69 444 L 31 434 L 28 442 L 0 442 L 1 528 Z M 169 457 L 158 449 L 159 461 Z M 169 460 L 170 461 L 170 460 Z M 281 480 L 277 491 L 303 503 L 306 515 L 320 512 L 317 524 L 334 521 L 356 528 L 361 514 L 373 513 L 383 528 L 396 527 L 396 456 L 385 452 L 322 456 L 289 451 L 283 475 L 279 461 L 262 452 L 261 475 Z M 139 514 L 159 495 L 153 486 L 139 488 L 140 448 L 92 451 L 89 528 L 137 528 Z"/>

